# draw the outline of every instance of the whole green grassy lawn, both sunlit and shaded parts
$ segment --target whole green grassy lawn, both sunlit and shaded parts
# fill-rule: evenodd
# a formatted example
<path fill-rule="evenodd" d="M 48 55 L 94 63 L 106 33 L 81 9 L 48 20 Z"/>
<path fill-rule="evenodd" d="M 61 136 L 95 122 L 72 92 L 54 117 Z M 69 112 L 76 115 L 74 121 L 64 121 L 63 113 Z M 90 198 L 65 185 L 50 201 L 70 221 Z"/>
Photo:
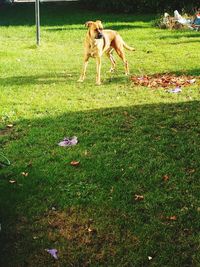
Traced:
<path fill-rule="evenodd" d="M 107 58 L 101 86 L 94 60 L 77 83 L 84 23 L 96 19 L 135 47 L 132 75 L 196 83 L 135 86 Z M 11 165 L 0 169 L 0 266 L 200 266 L 200 33 L 154 19 L 42 4 L 36 47 L 34 5 L 1 7 L 0 153 Z M 74 135 L 76 146 L 58 146 Z"/>

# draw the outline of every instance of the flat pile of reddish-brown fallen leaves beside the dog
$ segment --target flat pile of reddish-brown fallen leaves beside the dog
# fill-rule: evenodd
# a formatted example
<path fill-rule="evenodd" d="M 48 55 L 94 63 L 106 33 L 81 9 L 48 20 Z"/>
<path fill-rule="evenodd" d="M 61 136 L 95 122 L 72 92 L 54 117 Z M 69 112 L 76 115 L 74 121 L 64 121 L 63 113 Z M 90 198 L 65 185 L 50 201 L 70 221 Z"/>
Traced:
<path fill-rule="evenodd" d="M 131 80 L 135 85 L 145 86 L 149 88 L 185 87 L 190 86 L 197 81 L 196 77 L 194 76 L 177 76 L 170 73 L 132 76 Z"/>

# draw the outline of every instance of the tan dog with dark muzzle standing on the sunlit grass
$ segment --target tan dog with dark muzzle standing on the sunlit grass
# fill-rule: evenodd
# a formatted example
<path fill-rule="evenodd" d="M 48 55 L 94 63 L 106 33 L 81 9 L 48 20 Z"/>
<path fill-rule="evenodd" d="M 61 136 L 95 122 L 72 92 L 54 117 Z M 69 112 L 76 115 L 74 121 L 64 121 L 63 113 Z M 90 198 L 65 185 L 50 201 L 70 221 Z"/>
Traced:
<path fill-rule="evenodd" d="M 125 58 L 124 48 L 128 50 L 135 50 L 134 48 L 128 46 L 122 39 L 122 37 L 116 31 L 103 30 L 103 25 L 100 20 L 88 21 L 85 23 L 88 27 L 88 32 L 85 39 L 84 45 L 84 66 L 79 82 L 83 82 L 85 79 L 86 69 L 88 65 L 88 60 L 90 57 L 96 58 L 97 63 L 97 76 L 96 84 L 101 84 L 101 57 L 105 52 L 111 61 L 110 71 L 115 70 L 115 60 L 113 57 L 113 50 L 117 52 L 119 57 L 123 60 L 125 66 L 125 74 L 129 74 L 128 62 Z"/>

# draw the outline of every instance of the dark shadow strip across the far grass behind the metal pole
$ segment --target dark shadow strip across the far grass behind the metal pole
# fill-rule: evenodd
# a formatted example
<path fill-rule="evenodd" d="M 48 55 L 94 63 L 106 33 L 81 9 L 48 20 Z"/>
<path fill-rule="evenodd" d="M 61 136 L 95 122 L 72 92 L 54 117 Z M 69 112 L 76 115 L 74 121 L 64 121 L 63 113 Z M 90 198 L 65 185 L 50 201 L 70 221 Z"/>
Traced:
<path fill-rule="evenodd" d="M 149 22 L 153 18 L 150 15 L 127 14 L 103 14 L 98 11 L 88 11 L 83 9 L 79 3 L 62 2 L 62 3 L 42 3 L 41 25 L 83 25 L 88 20 L 100 19 L 103 22 Z M 34 3 L 18 3 L 12 6 L 5 6 L 0 9 L 0 25 L 34 25 L 35 24 L 35 6 Z"/>

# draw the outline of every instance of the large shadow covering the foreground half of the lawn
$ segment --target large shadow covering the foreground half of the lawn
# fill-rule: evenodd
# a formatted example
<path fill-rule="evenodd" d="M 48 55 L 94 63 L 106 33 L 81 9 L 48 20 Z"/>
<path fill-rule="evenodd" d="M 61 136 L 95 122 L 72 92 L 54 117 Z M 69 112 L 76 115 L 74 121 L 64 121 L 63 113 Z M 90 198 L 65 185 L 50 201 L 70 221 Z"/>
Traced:
<path fill-rule="evenodd" d="M 42 252 L 51 247 L 61 266 L 146 266 L 149 255 L 157 266 L 196 266 L 199 114 L 194 101 L 16 122 L 5 147 L 12 165 L 0 179 L 1 266 L 54 266 Z M 73 135 L 78 145 L 57 145 Z M 70 166 L 72 160 L 80 166 Z M 52 207 L 60 211 L 53 221 Z M 84 215 L 78 208 L 68 213 L 70 207 Z M 73 239 L 58 224 L 70 214 L 78 218 L 67 224 Z M 90 231 L 92 243 L 81 239 L 80 246 L 82 235 L 74 233 L 89 229 L 85 217 L 97 230 Z"/>

